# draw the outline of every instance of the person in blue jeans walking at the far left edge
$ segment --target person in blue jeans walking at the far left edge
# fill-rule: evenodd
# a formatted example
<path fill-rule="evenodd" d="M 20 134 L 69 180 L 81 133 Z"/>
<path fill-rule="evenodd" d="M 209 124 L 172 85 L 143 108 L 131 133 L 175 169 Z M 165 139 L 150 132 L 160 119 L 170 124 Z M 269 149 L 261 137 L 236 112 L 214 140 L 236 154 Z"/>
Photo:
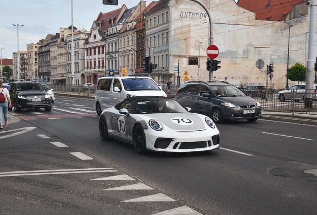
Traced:
<path fill-rule="evenodd" d="M 8 123 L 8 116 L 7 116 L 7 111 L 9 107 L 12 107 L 11 104 L 11 99 L 10 99 L 10 94 L 9 91 L 3 87 L 3 82 L 0 81 L 0 129 L 3 128 L 2 125 L 2 111 L 4 115 L 4 127 L 7 127 Z"/>

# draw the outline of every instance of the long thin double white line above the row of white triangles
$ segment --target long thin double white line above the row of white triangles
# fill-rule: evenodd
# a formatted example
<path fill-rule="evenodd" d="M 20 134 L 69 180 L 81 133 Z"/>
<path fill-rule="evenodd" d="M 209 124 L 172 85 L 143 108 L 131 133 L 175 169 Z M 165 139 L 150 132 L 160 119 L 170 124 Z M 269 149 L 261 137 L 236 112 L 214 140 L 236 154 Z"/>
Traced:
<path fill-rule="evenodd" d="M 70 174 L 70 173 L 96 173 L 96 172 L 117 172 L 117 170 L 113 170 L 112 168 L 87 168 L 87 169 L 15 171 L 15 172 L 1 172 L 0 177 L 27 176 L 27 175 L 55 175 L 55 174 Z"/>

